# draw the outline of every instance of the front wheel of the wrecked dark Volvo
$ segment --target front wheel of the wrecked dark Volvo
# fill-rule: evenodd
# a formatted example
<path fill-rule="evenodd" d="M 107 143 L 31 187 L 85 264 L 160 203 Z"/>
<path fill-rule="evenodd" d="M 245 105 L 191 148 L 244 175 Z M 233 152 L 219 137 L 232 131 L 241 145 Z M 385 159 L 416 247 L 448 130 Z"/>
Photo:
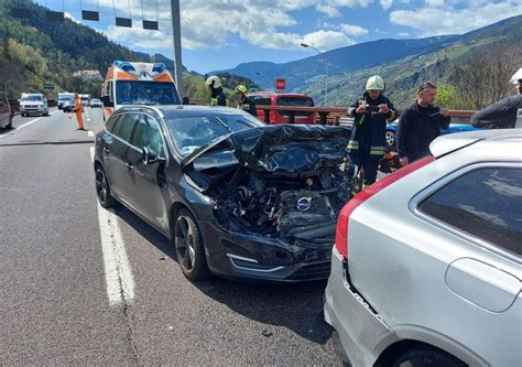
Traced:
<path fill-rule="evenodd" d="M 183 274 L 192 281 L 208 278 L 205 247 L 196 219 L 186 208 L 177 212 L 174 222 L 174 246 Z"/>

